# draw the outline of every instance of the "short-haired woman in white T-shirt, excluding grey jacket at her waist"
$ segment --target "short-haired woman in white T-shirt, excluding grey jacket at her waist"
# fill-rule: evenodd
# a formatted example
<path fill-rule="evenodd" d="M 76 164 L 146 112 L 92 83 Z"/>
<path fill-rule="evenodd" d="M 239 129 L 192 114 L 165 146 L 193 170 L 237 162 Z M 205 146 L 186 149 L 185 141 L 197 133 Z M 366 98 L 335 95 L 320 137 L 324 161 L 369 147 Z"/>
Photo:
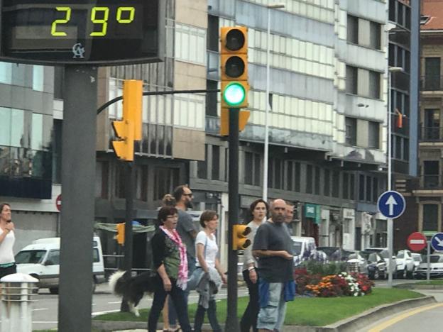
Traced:
<path fill-rule="evenodd" d="M 217 258 L 219 246 L 217 245 L 214 234 L 217 230 L 217 226 L 219 226 L 219 216 L 215 211 L 204 211 L 202 216 L 200 216 L 200 225 L 202 226 L 203 231 L 200 231 L 197 234 L 197 238 L 195 238 L 195 252 L 197 254 L 195 264 L 196 270 L 202 270 L 202 272 L 209 275 L 214 270 L 217 270 L 222 282 L 226 284 L 226 276 L 224 275 L 222 266 Z M 202 297 L 201 294 L 200 297 Z M 206 310 L 208 311 L 208 319 L 209 323 L 211 323 L 212 331 L 222 331 L 222 328 L 217 321 L 217 307 L 215 305 L 215 299 L 213 297 L 209 298 L 208 309 L 204 309 L 204 306 L 202 306 L 200 303 L 202 302 L 199 299 L 199 305 L 197 307 L 197 312 L 195 313 L 194 331 L 202 331 L 204 313 Z"/>

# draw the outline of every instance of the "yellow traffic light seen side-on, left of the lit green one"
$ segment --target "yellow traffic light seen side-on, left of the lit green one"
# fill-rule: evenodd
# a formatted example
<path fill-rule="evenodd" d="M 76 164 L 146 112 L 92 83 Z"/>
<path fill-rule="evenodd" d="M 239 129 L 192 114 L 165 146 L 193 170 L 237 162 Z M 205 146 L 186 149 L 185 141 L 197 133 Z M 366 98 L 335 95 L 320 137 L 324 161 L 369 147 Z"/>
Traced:
<path fill-rule="evenodd" d="M 118 140 L 112 142 L 117 157 L 133 161 L 134 140 L 141 140 L 143 82 L 126 79 L 123 84 L 123 120 L 112 121 Z"/>

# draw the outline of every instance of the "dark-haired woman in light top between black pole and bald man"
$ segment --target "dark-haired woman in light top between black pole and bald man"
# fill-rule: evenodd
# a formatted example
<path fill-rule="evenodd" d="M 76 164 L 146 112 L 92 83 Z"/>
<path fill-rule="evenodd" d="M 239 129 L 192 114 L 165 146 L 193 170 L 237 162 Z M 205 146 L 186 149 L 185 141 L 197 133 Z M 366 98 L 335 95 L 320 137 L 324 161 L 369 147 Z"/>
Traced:
<path fill-rule="evenodd" d="M 263 199 L 256 199 L 249 206 L 249 212 L 252 216 L 252 221 L 248 223 L 248 227 L 251 228 L 251 233 L 248 234 L 248 239 L 251 240 L 249 245 L 243 254 L 243 277 L 249 292 L 249 303 L 246 306 L 246 310 L 241 317 L 240 329 L 241 332 L 250 331 L 251 327 L 253 331 L 257 330 L 257 316 L 260 306 L 258 304 L 258 276 L 257 276 L 257 261 L 252 255 L 252 245 L 254 237 L 256 236 L 258 227 L 268 217 L 269 206 Z"/>

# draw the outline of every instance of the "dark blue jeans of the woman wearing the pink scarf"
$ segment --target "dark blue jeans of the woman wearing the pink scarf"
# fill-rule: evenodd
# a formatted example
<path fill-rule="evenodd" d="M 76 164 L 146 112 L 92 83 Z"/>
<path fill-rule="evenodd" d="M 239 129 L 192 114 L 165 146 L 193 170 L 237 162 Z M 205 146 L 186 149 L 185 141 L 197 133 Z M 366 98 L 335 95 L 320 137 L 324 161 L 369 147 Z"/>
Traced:
<path fill-rule="evenodd" d="M 153 304 L 148 318 L 149 332 L 157 331 L 158 317 L 160 316 L 160 312 L 162 311 L 163 306 L 165 306 L 165 299 L 167 295 L 170 296 L 170 302 L 173 302 L 175 309 L 177 309 L 178 321 L 180 322 L 182 331 L 192 331 L 189 317 L 187 316 L 185 292 L 180 287 L 177 287 L 177 284 L 175 284 L 175 280 L 171 280 L 171 282 L 173 283 L 173 287 L 170 292 L 166 292 L 163 288 L 163 282 L 160 280 L 160 277 L 158 277 L 154 292 Z"/>

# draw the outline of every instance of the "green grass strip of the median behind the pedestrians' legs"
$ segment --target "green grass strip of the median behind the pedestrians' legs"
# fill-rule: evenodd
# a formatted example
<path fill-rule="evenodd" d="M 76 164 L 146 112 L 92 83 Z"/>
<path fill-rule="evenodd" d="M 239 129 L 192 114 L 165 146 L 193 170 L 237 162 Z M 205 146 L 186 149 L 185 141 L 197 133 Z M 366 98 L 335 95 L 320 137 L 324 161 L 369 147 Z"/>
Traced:
<path fill-rule="evenodd" d="M 288 303 L 286 325 L 325 326 L 346 319 L 381 304 L 389 304 L 403 299 L 415 299 L 424 295 L 408 289 L 374 288 L 372 294 L 364 297 L 297 297 Z M 240 297 L 237 301 L 239 318 L 248 304 L 247 297 Z M 197 304 L 189 305 L 190 321 L 194 321 Z M 321 314 L 319 314 L 321 313 Z M 140 311 L 136 317 L 128 313 L 111 313 L 95 316 L 100 321 L 148 321 L 148 309 Z M 226 299 L 217 301 L 217 316 L 222 323 L 226 320 Z M 161 315 L 160 315 L 161 320 Z"/>

